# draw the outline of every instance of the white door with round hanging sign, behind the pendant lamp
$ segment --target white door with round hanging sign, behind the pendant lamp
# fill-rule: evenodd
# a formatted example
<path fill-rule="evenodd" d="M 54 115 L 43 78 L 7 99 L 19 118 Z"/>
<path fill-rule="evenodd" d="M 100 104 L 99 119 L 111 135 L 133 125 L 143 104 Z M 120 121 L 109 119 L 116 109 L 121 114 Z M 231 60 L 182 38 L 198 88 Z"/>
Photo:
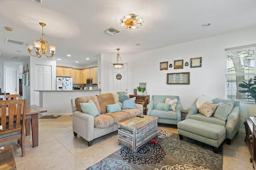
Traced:
<path fill-rule="evenodd" d="M 128 64 L 123 63 L 124 65 L 117 69 L 113 66 L 114 63 L 109 63 L 109 92 L 126 92 L 127 94 L 127 86 L 128 86 Z M 122 78 L 120 80 L 116 79 L 117 74 L 121 74 Z"/>

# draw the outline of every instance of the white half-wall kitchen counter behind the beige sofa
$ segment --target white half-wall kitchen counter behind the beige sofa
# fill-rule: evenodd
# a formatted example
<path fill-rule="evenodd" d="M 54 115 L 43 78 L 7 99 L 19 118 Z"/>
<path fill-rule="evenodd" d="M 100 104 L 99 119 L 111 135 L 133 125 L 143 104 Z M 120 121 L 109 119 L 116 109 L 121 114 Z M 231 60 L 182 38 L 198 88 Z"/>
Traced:
<path fill-rule="evenodd" d="M 47 110 L 41 115 L 72 115 L 71 99 L 96 96 L 101 90 L 34 90 L 39 93 L 39 105 Z"/>

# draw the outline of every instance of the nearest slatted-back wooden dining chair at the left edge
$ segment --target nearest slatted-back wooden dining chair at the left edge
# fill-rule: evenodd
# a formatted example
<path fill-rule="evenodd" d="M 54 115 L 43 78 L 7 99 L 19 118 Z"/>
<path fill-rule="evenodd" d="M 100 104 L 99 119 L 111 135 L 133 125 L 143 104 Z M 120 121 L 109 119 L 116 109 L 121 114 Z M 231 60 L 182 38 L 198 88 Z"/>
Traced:
<path fill-rule="evenodd" d="M 18 139 L 21 146 L 22 156 L 25 156 L 25 117 L 26 99 L 0 101 L 0 143 Z"/>

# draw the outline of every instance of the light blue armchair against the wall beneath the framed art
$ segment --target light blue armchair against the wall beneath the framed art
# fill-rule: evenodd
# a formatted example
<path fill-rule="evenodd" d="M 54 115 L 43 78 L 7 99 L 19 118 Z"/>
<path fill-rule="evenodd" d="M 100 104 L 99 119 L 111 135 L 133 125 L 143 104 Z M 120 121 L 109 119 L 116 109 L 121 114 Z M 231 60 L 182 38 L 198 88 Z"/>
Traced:
<path fill-rule="evenodd" d="M 158 103 L 164 103 L 166 98 L 170 98 L 171 100 L 178 99 L 176 111 L 164 111 L 156 109 L 156 105 Z M 158 123 L 177 125 L 177 123 L 181 121 L 180 111 L 182 110 L 179 99 L 179 96 L 153 95 L 152 100 L 147 105 L 147 115 L 158 117 Z"/>

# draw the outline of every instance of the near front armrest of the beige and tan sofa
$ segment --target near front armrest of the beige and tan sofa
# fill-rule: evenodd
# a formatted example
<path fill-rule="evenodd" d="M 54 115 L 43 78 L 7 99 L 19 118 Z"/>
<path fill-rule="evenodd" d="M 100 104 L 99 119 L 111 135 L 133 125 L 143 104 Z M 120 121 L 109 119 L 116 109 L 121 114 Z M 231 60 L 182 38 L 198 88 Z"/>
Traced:
<path fill-rule="evenodd" d="M 73 131 L 86 141 L 94 139 L 94 117 L 80 111 L 73 112 Z"/>

